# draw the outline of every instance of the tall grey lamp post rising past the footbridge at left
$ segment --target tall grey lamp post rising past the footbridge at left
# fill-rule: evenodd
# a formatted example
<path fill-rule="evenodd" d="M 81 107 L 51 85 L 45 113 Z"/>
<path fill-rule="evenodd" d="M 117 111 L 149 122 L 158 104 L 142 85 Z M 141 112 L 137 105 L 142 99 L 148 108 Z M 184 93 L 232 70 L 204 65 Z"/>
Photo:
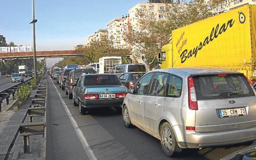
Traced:
<path fill-rule="evenodd" d="M 36 49 L 35 49 L 35 23 L 37 19 L 35 19 L 35 0 L 32 0 L 32 22 L 33 24 L 33 50 L 34 50 L 34 78 L 37 79 L 37 72 L 36 72 Z"/>

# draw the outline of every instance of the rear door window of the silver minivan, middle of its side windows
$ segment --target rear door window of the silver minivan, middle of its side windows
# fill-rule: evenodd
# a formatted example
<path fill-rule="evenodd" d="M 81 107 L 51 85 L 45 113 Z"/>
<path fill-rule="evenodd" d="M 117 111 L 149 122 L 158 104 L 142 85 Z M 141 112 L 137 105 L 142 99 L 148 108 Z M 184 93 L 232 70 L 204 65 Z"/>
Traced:
<path fill-rule="evenodd" d="M 152 81 L 150 95 L 163 96 L 167 79 L 167 73 L 156 73 Z"/>

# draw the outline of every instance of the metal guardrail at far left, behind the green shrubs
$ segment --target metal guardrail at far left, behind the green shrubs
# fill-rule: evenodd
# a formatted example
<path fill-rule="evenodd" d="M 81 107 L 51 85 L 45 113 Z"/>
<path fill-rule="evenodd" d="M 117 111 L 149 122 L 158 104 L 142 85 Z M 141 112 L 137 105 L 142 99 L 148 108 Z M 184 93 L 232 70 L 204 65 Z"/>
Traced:
<path fill-rule="evenodd" d="M 0 112 L 2 112 L 2 102 L 3 102 L 3 100 L 6 99 L 6 103 L 7 103 L 7 105 L 9 105 L 10 95 L 14 96 L 15 92 L 18 89 L 18 86 L 23 86 L 23 85 L 29 84 L 29 81 L 32 78 L 34 78 L 34 77 L 31 77 L 31 78 L 27 79 L 26 81 L 24 81 L 22 83 L 14 85 L 14 86 L 12 86 L 12 87 L 10 87 L 10 88 L 0 92 Z"/>

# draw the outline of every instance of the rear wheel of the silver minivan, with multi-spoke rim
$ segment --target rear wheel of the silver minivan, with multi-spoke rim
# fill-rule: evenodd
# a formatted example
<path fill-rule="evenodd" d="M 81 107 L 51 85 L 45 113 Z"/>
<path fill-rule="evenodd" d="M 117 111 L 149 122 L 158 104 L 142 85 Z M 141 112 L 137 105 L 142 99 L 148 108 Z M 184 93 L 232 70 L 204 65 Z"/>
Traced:
<path fill-rule="evenodd" d="M 182 148 L 177 144 L 174 131 L 168 122 L 160 127 L 161 147 L 167 156 L 174 156 L 181 153 Z"/>

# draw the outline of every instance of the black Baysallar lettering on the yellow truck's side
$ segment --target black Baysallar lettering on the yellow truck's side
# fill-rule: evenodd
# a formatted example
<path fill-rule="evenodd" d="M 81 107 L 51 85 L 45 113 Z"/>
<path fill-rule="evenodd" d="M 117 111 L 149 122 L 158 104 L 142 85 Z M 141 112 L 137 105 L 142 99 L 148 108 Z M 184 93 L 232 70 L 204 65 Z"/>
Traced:
<path fill-rule="evenodd" d="M 201 50 L 204 46 L 209 44 L 214 39 L 217 39 L 219 35 L 222 33 L 225 33 L 228 28 L 232 28 L 234 24 L 234 20 L 230 19 L 227 21 L 227 23 L 223 23 L 220 27 L 220 24 L 218 23 L 216 27 L 211 29 L 210 35 L 205 37 L 203 42 L 200 42 L 198 46 L 194 47 L 194 49 L 188 49 L 183 50 L 183 52 L 180 55 L 181 63 L 186 62 L 187 59 L 190 57 L 197 57 L 198 51 Z"/>

